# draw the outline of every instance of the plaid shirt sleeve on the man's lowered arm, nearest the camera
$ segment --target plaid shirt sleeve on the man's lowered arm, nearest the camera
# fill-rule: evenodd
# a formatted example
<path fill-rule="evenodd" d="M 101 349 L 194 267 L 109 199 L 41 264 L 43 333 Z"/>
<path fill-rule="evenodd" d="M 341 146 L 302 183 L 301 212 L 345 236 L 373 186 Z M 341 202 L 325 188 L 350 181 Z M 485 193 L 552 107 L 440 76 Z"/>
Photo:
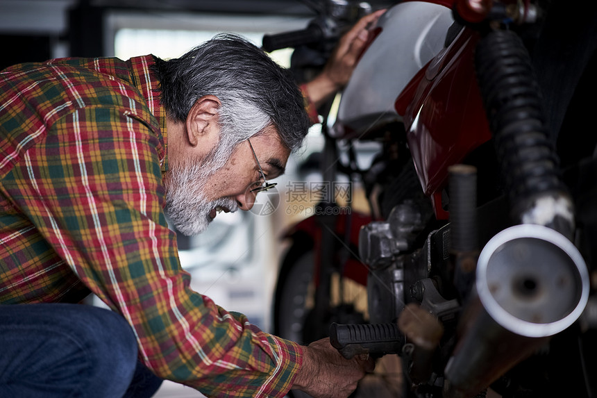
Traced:
<path fill-rule="evenodd" d="M 283 397 L 299 345 L 192 291 L 162 210 L 159 141 L 131 113 L 63 117 L 12 170 L 12 194 L 92 292 L 133 326 L 158 376 L 215 397 Z"/>

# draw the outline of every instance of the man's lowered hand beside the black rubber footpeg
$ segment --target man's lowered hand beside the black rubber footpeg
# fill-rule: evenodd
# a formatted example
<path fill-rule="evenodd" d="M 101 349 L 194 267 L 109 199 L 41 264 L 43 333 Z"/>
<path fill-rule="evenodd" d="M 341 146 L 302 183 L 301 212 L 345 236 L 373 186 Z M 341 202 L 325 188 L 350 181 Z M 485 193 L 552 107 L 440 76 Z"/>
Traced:
<path fill-rule="evenodd" d="M 292 388 L 316 398 L 346 398 L 367 372 L 373 372 L 372 358 L 344 358 L 323 338 L 303 347 L 303 366 Z"/>

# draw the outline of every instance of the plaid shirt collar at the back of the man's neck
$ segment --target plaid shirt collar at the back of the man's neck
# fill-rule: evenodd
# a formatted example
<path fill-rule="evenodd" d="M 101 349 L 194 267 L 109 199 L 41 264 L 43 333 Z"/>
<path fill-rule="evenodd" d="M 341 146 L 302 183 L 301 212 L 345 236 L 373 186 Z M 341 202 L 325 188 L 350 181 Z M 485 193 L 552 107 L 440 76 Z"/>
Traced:
<path fill-rule="evenodd" d="M 147 102 L 149 111 L 155 116 L 155 119 L 158 119 L 161 131 L 161 137 L 158 138 L 163 145 L 162 148 L 158 149 L 158 154 L 160 155 L 160 167 L 162 172 L 165 172 L 168 169 L 166 111 L 160 104 L 160 82 L 151 68 L 155 64 L 155 58 L 151 55 L 133 57 L 126 61 L 126 64 L 133 77 L 133 83 Z"/>

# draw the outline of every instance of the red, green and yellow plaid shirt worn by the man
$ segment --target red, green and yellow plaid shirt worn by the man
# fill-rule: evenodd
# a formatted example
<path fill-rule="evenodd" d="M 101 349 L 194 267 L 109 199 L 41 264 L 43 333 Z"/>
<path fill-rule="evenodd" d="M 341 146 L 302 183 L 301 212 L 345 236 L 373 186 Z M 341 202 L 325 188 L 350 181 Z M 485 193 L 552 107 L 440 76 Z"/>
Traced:
<path fill-rule="evenodd" d="M 190 290 L 180 267 L 151 65 L 64 58 L 0 72 L 0 304 L 91 290 L 159 376 L 208 396 L 282 397 L 301 348 Z"/>

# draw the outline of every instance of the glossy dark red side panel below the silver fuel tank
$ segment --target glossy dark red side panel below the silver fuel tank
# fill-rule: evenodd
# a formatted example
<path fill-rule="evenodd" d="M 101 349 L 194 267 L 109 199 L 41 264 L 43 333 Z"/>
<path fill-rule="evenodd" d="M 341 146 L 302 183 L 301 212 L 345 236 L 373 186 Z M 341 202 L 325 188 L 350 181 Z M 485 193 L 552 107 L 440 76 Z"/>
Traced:
<path fill-rule="evenodd" d="M 491 138 L 474 69 L 478 40 L 476 31 L 463 28 L 396 99 L 419 181 L 438 219 L 448 218 L 441 201 L 448 167 Z"/>

